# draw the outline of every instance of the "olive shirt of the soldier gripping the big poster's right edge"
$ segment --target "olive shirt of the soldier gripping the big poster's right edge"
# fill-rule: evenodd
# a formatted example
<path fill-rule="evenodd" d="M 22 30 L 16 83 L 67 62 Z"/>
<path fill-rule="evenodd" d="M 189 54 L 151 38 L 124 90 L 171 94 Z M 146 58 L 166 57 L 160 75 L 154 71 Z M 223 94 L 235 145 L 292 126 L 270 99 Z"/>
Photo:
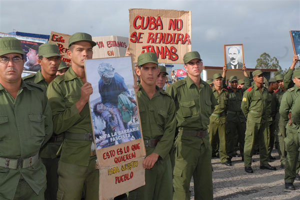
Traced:
<path fill-rule="evenodd" d="M 176 128 L 174 101 L 157 86 L 157 92 L 151 99 L 141 85 L 139 87 L 136 96 L 143 139 L 159 139 L 155 148 L 146 147 L 146 154 L 148 156 L 156 153 L 164 159 L 169 154 L 174 140 Z"/>

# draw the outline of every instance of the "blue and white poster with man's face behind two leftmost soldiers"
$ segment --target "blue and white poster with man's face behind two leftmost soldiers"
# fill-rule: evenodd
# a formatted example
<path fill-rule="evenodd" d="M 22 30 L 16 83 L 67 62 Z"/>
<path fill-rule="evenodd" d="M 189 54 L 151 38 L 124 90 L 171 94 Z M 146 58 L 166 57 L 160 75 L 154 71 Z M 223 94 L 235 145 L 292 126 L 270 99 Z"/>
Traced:
<path fill-rule="evenodd" d="M 35 37 L 24 37 L 18 35 L 11 35 L 0 32 L 0 37 L 15 37 L 21 41 L 22 49 L 25 53 L 24 56 L 24 69 L 23 71 L 28 71 L 29 73 L 35 73 L 40 69 L 38 64 L 38 47 L 41 44 L 47 43 L 47 39 L 35 38 Z"/>

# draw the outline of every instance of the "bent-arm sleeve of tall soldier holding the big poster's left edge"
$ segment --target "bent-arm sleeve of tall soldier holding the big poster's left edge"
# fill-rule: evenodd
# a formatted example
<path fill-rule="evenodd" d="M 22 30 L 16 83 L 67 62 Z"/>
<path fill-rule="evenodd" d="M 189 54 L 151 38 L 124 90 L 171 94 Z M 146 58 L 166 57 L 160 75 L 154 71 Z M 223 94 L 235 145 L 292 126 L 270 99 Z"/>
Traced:
<path fill-rule="evenodd" d="M 78 120 L 80 114 L 76 104 L 67 108 L 59 85 L 52 81 L 47 89 L 47 97 L 52 110 L 53 132 L 60 134 L 72 127 Z"/>

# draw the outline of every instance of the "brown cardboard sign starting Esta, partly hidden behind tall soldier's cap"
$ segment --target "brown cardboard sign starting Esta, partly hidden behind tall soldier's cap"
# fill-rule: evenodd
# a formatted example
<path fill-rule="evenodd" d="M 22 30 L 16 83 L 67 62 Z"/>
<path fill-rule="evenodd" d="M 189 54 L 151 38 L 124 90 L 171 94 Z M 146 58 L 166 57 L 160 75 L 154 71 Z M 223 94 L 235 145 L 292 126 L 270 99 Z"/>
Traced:
<path fill-rule="evenodd" d="M 61 60 L 65 62 L 67 66 L 71 66 L 71 59 L 67 56 L 68 40 L 70 35 L 52 31 L 49 38 L 49 43 L 56 44 L 59 48 Z"/>

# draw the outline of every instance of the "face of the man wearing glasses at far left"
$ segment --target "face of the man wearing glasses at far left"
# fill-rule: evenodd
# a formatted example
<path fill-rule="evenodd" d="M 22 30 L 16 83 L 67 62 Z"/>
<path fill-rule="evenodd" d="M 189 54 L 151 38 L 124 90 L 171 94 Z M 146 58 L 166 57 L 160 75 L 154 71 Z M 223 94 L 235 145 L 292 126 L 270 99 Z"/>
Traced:
<path fill-rule="evenodd" d="M 5 83 L 15 83 L 21 79 L 24 60 L 18 53 L 8 53 L 0 56 L 0 60 L 9 59 L 7 63 L 0 62 L 0 81 Z M 12 59 L 18 62 L 13 62 Z"/>

